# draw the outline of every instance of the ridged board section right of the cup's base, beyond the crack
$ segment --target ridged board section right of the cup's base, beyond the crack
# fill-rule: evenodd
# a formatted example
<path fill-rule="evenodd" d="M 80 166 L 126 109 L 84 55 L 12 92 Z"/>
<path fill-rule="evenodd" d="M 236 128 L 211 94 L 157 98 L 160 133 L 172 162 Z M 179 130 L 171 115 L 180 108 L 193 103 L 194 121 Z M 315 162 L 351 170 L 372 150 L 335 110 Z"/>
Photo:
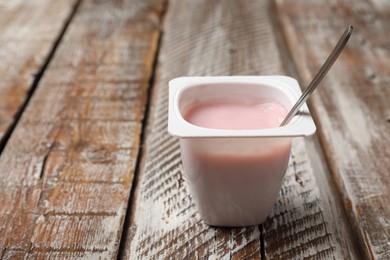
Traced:
<path fill-rule="evenodd" d="M 281 194 L 264 223 L 267 259 L 359 259 L 357 240 L 332 180 L 324 176 L 329 173 L 321 168 L 321 155 L 312 141 L 306 144 L 294 142 Z"/>

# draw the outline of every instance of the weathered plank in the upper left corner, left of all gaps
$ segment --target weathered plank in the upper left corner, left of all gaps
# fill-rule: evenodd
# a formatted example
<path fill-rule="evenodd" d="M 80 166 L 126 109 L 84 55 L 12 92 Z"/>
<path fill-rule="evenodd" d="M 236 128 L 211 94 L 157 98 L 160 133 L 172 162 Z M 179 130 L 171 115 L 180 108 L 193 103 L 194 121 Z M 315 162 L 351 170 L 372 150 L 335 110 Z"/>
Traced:
<path fill-rule="evenodd" d="M 78 2 L 0 2 L 0 143 Z"/>

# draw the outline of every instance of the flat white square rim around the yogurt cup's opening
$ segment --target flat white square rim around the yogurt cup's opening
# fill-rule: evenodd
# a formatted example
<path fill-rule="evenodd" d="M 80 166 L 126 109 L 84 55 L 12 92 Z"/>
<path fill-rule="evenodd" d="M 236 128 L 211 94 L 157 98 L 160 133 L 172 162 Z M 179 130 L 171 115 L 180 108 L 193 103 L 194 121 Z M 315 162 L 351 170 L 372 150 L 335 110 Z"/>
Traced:
<path fill-rule="evenodd" d="M 302 91 L 296 79 L 288 76 L 197 76 L 178 77 L 169 81 L 168 132 L 176 137 L 298 137 L 315 133 L 316 126 L 306 104 L 289 124 L 282 127 L 249 130 L 228 130 L 205 128 L 187 122 L 181 115 L 179 101 L 182 93 L 192 87 L 204 84 L 261 84 L 283 92 L 294 104 Z"/>

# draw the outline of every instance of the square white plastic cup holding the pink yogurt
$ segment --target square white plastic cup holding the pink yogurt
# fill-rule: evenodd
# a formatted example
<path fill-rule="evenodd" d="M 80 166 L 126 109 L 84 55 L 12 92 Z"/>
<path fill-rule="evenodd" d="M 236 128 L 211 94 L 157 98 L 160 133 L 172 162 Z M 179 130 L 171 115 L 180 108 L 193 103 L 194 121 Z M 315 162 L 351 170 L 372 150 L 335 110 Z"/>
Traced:
<path fill-rule="evenodd" d="M 292 137 L 316 127 L 306 105 L 283 127 L 223 130 L 193 125 L 183 115 L 199 102 L 272 99 L 288 110 L 301 95 L 286 76 L 181 77 L 169 82 L 168 131 L 180 137 L 191 196 L 205 223 L 258 225 L 270 214 L 281 189 Z"/>

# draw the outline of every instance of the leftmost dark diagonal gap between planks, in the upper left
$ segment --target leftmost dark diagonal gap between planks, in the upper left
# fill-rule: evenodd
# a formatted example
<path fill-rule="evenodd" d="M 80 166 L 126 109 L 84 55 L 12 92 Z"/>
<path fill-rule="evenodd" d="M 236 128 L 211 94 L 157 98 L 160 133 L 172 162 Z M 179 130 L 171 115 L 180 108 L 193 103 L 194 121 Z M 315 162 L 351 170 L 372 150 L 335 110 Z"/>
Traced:
<path fill-rule="evenodd" d="M 49 54 L 47 55 L 46 60 L 44 61 L 42 67 L 34 75 L 34 80 L 31 84 L 31 87 L 28 89 L 24 101 L 22 102 L 18 111 L 16 112 L 12 124 L 8 127 L 7 131 L 4 133 L 4 136 L 0 139 L 0 156 L 3 153 L 4 148 L 6 147 L 7 142 L 10 139 L 13 131 L 15 130 L 20 118 L 22 117 L 23 112 L 26 110 L 26 108 L 31 100 L 31 97 L 34 95 L 35 90 L 38 88 L 39 82 L 43 78 L 43 75 L 45 74 L 45 71 L 50 64 L 50 61 L 53 59 L 54 54 L 56 53 L 58 46 L 60 45 L 60 43 L 65 35 L 65 32 L 69 27 L 69 24 L 72 22 L 73 17 L 77 13 L 77 10 L 78 10 L 81 2 L 82 2 L 82 0 L 76 1 L 74 6 L 72 7 L 72 10 L 69 13 L 68 18 L 65 20 L 64 25 L 63 25 L 59 35 L 55 38 L 55 40 L 53 42 L 53 46 L 51 47 L 51 50 L 49 51 Z"/>

